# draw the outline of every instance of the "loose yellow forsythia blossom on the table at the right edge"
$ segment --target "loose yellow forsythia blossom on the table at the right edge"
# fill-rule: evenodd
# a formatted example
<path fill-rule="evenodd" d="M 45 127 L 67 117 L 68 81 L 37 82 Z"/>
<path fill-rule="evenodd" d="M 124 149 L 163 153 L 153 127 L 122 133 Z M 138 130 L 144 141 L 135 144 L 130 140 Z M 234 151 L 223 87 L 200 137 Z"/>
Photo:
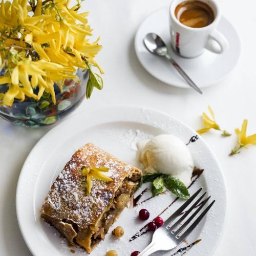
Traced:
<path fill-rule="evenodd" d="M 256 145 L 256 134 L 246 136 L 247 123 L 248 123 L 248 120 L 244 119 L 241 131 L 238 128 L 235 130 L 238 135 L 238 146 L 234 147 L 231 150 L 231 153 L 229 154 L 229 156 L 239 154 L 240 153 L 239 150 L 242 147 L 245 147 L 246 145 L 249 145 L 249 144 Z"/>

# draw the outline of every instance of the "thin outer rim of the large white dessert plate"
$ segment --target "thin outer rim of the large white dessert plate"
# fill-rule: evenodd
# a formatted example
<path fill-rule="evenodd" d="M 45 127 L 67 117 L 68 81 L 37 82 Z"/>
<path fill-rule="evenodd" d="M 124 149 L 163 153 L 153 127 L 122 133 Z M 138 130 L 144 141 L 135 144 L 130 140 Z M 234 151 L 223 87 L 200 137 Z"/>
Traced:
<path fill-rule="evenodd" d="M 148 110 L 148 111 L 152 111 L 154 113 L 157 113 L 157 114 L 161 114 L 161 115 L 164 115 L 168 118 L 171 118 L 177 122 L 179 122 L 182 126 L 186 127 L 186 129 L 190 130 L 191 132 L 194 132 L 195 134 L 197 134 L 200 138 L 200 140 L 203 142 L 203 144 L 206 146 L 208 152 L 210 153 L 212 159 L 216 162 L 216 165 L 218 166 L 219 170 L 220 170 L 220 176 L 222 178 L 222 182 L 223 182 L 223 197 L 224 197 L 224 207 L 223 207 L 223 210 L 225 212 L 225 215 L 222 219 L 222 222 L 223 222 L 223 225 L 222 225 L 222 229 L 220 230 L 219 232 L 219 237 L 217 238 L 216 240 L 216 243 L 214 245 L 211 246 L 211 249 L 210 249 L 210 254 L 209 255 L 212 255 L 214 253 L 214 251 L 216 250 L 221 238 L 222 238 L 222 235 L 223 235 L 223 231 L 224 231 L 224 226 L 225 226 L 225 223 L 226 223 L 226 214 L 227 214 L 227 186 L 226 186 L 226 181 L 225 181 L 225 177 L 224 177 L 224 174 L 223 174 L 223 170 L 221 168 L 221 165 L 217 159 L 217 157 L 215 156 L 214 152 L 212 152 L 211 148 L 208 146 L 208 144 L 205 142 L 205 140 L 194 130 L 192 129 L 189 125 L 187 125 L 186 123 L 184 123 L 183 121 L 181 121 L 180 119 L 168 114 L 168 113 L 165 113 L 163 111 L 160 111 L 160 110 L 156 110 L 154 108 L 148 108 L 148 107 L 143 107 L 143 106 L 139 106 L 139 105 L 126 105 L 126 104 L 115 104 L 115 105 L 102 105 L 102 106 L 99 106 L 97 108 L 95 108 L 91 113 L 90 115 L 92 115 L 92 113 L 94 112 L 98 112 L 100 110 L 106 110 L 106 109 L 109 109 L 109 110 L 116 110 L 116 109 L 120 109 L 123 110 L 123 109 L 129 109 L 131 111 L 132 110 L 136 110 L 136 111 L 144 111 L 144 110 Z M 84 117 L 84 113 L 82 111 L 74 114 L 74 115 L 71 115 L 69 116 L 68 118 L 66 118 L 65 120 L 63 120 L 61 123 L 57 124 L 56 126 L 54 126 L 50 131 L 48 131 L 44 136 L 42 136 L 38 141 L 37 143 L 33 146 L 32 150 L 30 151 L 30 153 L 28 154 L 24 164 L 23 164 L 23 167 L 22 169 L 20 170 L 20 174 L 19 174 L 19 178 L 18 178 L 18 182 L 17 182 L 17 187 L 16 187 L 16 197 L 15 197 L 15 209 L 16 209 L 16 217 L 17 217 L 17 222 L 18 222 L 18 227 L 20 229 L 20 232 L 22 233 L 22 236 L 23 236 L 23 239 L 28 247 L 28 249 L 30 250 L 30 252 L 33 254 L 33 255 L 36 255 L 35 254 L 35 251 L 34 249 L 32 249 L 32 247 L 30 246 L 30 242 L 29 242 L 29 239 L 27 240 L 26 239 L 26 234 L 25 234 L 25 230 L 23 229 L 22 227 L 22 224 L 21 224 L 21 221 L 20 221 L 20 218 L 19 218 L 19 205 L 18 205 L 18 201 L 19 201 L 19 197 L 20 195 L 22 195 L 22 193 L 19 193 L 19 190 L 22 189 L 20 187 L 20 183 L 22 182 L 23 180 L 23 176 L 25 176 L 26 174 L 26 165 L 28 164 L 28 160 L 30 158 L 31 155 L 33 155 L 33 152 L 37 150 L 37 146 L 38 144 L 43 141 L 45 139 L 45 137 L 49 136 L 50 134 L 54 134 L 55 131 L 57 131 L 58 129 L 61 128 L 61 126 L 64 126 L 65 123 L 69 122 L 70 120 L 72 119 L 75 119 L 76 117 L 78 116 L 83 116 Z M 123 120 L 119 120 L 119 121 L 123 121 Z M 101 121 L 100 123 L 104 123 L 105 121 L 103 120 L 103 122 Z M 138 122 L 138 121 L 136 121 Z M 143 122 L 140 122 L 140 123 L 143 123 Z M 91 125 L 89 125 L 88 127 L 90 127 Z M 35 182 L 36 184 L 36 182 Z"/>

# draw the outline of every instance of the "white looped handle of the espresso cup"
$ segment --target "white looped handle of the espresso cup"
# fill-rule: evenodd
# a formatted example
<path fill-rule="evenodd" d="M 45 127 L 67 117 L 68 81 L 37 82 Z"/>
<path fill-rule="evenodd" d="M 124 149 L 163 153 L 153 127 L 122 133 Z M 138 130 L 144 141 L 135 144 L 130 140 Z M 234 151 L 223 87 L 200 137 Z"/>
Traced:
<path fill-rule="evenodd" d="M 211 52 L 220 54 L 228 50 L 229 44 L 226 37 L 221 32 L 214 30 L 210 33 L 204 48 Z"/>

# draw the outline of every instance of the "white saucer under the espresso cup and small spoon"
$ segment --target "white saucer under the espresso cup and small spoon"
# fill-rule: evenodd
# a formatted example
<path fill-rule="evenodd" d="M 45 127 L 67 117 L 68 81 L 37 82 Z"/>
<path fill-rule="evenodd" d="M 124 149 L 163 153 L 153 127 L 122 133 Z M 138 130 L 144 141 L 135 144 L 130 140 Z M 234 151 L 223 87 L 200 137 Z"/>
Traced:
<path fill-rule="evenodd" d="M 154 56 L 146 50 L 143 38 L 147 33 L 155 32 L 164 39 L 170 55 L 198 87 L 211 86 L 226 77 L 236 66 L 241 52 L 238 33 L 230 22 L 222 16 L 218 26 L 218 30 L 225 35 L 229 42 L 228 51 L 223 54 L 215 54 L 205 50 L 199 57 L 188 59 L 178 56 L 170 47 L 168 11 L 169 7 L 161 8 L 149 15 L 140 25 L 135 37 L 135 50 L 141 65 L 162 82 L 176 87 L 190 88 L 168 60 Z"/>

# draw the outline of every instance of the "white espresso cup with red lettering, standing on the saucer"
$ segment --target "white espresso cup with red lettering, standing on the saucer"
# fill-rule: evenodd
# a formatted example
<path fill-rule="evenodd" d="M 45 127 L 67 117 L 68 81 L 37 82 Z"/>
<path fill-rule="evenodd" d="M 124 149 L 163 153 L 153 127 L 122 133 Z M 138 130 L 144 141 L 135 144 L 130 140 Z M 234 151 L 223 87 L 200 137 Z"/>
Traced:
<path fill-rule="evenodd" d="M 223 53 L 228 50 L 228 41 L 216 28 L 221 18 L 220 9 L 213 0 L 199 0 L 207 4 L 214 13 L 214 20 L 201 28 L 188 27 L 182 24 L 175 15 L 176 7 L 186 2 L 173 0 L 169 8 L 169 28 L 173 49 L 182 57 L 193 58 L 207 49 L 213 53 Z"/>

